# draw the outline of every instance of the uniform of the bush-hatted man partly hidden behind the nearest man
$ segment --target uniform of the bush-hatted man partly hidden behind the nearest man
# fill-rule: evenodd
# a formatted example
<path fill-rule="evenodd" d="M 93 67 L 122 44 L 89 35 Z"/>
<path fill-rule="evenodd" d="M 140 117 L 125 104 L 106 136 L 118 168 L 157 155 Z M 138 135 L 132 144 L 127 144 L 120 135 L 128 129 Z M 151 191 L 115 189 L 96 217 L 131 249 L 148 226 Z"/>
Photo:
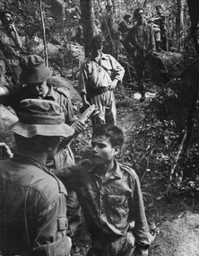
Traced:
<path fill-rule="evenodd" d="M 9 89 L 9 88 L 8 88 Z M 24 99 L 31 99 L 31 95 L 27 90 L 27 87 L 13 88 L 10 94 L 4 102 L 4 105 L 11 106 L 15 110 L 16 114 L 19 111 L 19 104 Z M 65 123 L 71 125 L 77 117 L 74 115 L 73 105 L 70 100 L 69 94 L 66 93 L 61 88 L 53 88 L 49 86 L 48 94 L 43 98 L 43 100 L 49 100 L 58 103 L 63 112 L 65 113 Z M 54 161 L 48 162 L 48 168 L 52 172 L 56 170 L 60 172 L 65 171 L 65 166 L 74 165 L 74 153 L 70 146 L 65 146 L 60 148 L 56 155 Z M 69 218 L 69 229 L 73 234 L 77 225 L 80 222 L 80 207 L 76 198 L 74 191 L 68 190 L 67 198 L 67 216 Z"/>

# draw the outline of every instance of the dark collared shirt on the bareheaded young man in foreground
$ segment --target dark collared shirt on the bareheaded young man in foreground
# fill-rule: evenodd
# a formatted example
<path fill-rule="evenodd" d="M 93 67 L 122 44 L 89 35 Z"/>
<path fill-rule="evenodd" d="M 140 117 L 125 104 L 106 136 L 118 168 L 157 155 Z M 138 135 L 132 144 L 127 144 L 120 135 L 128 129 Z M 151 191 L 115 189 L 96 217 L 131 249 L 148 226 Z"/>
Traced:
<path fill-rule="evenodd" d="M 56 173 L 65 186 L 76 191 L 93 237 L 120 237 L 134 221 L 136 242 L 148 248 L 151 241 L 139 179 L 134 170 L 115 163 L 115 172 L 104 180 L 100 167 L 89 161 Z"/>

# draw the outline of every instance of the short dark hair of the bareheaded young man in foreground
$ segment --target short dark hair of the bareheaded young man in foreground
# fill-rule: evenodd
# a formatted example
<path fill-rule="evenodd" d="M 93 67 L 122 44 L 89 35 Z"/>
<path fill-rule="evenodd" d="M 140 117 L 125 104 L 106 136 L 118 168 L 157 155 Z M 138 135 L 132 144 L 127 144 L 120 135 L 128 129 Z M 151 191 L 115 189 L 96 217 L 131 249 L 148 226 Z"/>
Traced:
<path fill-rule="evenodd" d="M 124 134 L 121 128 L 110 125 L 100 125 L 93 130 L 92 137 L 105 136 L 109 137 L 111 146 L 123 146 Z"/>

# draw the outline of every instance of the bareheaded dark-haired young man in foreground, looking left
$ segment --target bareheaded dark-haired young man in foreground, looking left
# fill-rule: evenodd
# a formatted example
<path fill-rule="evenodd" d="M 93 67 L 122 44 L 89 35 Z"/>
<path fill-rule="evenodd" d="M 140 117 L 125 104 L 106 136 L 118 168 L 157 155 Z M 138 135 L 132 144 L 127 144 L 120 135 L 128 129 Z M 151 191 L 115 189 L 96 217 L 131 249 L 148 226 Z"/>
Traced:
<path fill-rule="evenodd" d="M 147 256 L 153 240 L 139 179 L 115 159 L 123 142 L 120 128 L 99 126 L 92 135 L 91 159 L 56 173 L 77 193 L 91 233 L 88 256 Z"/>

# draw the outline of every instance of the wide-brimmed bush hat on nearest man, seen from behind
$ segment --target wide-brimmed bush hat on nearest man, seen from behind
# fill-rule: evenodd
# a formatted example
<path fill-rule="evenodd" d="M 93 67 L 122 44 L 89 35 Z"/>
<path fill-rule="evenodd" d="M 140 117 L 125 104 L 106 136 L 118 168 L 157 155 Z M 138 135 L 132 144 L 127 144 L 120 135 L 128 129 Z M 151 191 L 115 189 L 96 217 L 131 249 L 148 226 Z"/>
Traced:
<path fill-rule="evenodd" d="M 40 99 L 23 100 L 20 102 L 18 118 L 19 121 L 10 129 L 22 137 L 74 135 L 74 128 L 64 123 L 64 112 L 56 102 Z"/>

